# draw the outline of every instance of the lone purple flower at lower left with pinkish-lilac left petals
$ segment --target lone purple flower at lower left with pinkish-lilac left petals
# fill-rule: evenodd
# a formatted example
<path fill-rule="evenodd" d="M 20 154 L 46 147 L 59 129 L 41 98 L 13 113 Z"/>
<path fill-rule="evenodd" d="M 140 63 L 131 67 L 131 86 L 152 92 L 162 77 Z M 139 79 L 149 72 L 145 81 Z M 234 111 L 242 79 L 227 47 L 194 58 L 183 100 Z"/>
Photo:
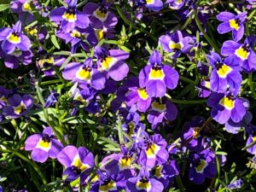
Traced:
<path fill-rule="evenodd" d="M 48 158 L 55 159 L 63 145 L 53 135 L 50 127 L 45 127 L 42 134 L 34 134 L 27 137 L 25 150 L 32 151 L 31 159 L 44 163 Z"/>

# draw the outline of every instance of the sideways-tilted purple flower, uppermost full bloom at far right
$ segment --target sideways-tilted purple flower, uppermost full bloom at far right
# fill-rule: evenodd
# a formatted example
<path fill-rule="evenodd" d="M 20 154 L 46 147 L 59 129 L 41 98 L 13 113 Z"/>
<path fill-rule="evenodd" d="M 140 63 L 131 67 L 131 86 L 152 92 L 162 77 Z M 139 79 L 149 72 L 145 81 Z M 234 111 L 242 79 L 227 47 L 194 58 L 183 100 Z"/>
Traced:
<path fill-rule="evenodd" d="M 223 21 L 218 25 L 218 33 L 224 34 L 232 31 L 233 39 L 237 42 L 244 34 L 243 22 L 247 18 L 247 12 L 234 15 L 230 12 L 224 11 L 216 16 L 217 20 Z"/>

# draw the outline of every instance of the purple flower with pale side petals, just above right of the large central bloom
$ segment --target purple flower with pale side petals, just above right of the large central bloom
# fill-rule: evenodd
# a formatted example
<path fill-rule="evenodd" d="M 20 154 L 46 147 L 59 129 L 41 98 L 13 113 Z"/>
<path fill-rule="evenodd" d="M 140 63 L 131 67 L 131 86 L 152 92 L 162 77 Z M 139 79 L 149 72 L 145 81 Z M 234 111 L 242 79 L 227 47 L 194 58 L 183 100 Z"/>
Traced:
<path fill-rule="evenodd" d="M 191 37 L 183 38 L 183 33 L 175 31 L 172 34 L 162 35 L 159 38 L 160 45 L 166 52 L 172 52 L 172 58 L 177 59 L 181 53 L 187 53 L 194 44 Z"/>

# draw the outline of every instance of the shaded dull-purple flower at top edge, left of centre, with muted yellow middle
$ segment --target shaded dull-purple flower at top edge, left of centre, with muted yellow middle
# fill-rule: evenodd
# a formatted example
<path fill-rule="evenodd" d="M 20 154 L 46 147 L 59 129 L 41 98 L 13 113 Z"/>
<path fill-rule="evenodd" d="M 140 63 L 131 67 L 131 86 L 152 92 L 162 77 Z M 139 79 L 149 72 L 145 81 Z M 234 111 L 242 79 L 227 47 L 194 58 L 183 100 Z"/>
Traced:
<path fill-rule="evenodd" d="M 89 15 L 90 25 L 96 29 L 113 28 L 118 22 L 117 17 L 108 10 L 106 4 L 86 3 L 83 13 Z"/>

